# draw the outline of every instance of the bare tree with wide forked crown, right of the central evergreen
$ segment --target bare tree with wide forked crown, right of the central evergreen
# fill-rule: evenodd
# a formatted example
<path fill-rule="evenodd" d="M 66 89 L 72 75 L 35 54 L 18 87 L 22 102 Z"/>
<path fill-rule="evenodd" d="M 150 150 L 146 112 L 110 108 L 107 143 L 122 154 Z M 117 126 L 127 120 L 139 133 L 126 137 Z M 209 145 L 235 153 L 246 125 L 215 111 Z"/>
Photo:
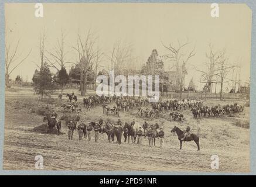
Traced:
<path fill-rule="evenodd" d="M 180 92 L 180 99 L 182 98 L 182 91 L 185 86 L 187 62 L 190 60 L 191 57 L 196 54 L 194 53 L 194 49 L 186 54 L 186 51 L 184 49 L 188 44 L 188 40 L 183 44 L 178 41 L 178 47 L 173 47 L 171 43 L 169 44 L 169 46 L 166 46 L 162 43 L 163 47 L 168 50 L 168 54 L 165 56 L 166 60 L 174 63 L 171 69 L 176 69 L 176 86 L 178 86 L 178 90 Z"/>

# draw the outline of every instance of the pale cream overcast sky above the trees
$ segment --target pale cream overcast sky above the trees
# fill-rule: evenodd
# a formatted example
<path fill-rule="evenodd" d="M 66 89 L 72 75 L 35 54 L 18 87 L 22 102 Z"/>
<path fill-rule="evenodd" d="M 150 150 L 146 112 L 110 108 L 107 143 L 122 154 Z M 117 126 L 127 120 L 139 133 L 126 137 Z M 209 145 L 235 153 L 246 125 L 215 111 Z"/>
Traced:
<path fill-rule="evenodd" d="M 241 80 L 250 78 L 251 10 L 244 4 L 220 4 L 220 17 L 211 18 L 210 4 L 43 4 L 43 18 L 35 17 L 35 4 L 5 4 L 5 20 L 8 28 L 6 40 L 16 43 L 20 38 L 19 53 L 28 59 L 11 74 L 21 75 L 31 81 L 40 64 L 39 36 L 45 27 L 46 50 L 51 51 L 60 37 L 61 29 L 67 33 L 67 60 L 76 62 L 77 32 L 94 30 L 105 54 L 110 54 L 117 40 L 132 44 L 138 64 L 145 63 L 153 49 L 160 56 L 166 54 L 166 45 L 178 45 L 187 40 L 187 51 L 195 47 L 196 56 L 189 64 L 203 68 L 207 61 L 209 43 L 214 49 L 226 48 L 230 62 L 241 63 Z M 21 56 L 22 58 L 22 56 Z M 107 70 L 107 59 L 104 59 Z M 67 65 L 70 69 L 71 64 Z M 168 70 L 170 62 L 165 61 Z M 199 86 L 200 73 L 188 66 L 186 85 L 190 78 Z M 228 85 L 225 85 L 226 87 Z M 199 88 L 199 87 L 198 87 Z M 202 88 L 202 84 L 201 84 Z"/>

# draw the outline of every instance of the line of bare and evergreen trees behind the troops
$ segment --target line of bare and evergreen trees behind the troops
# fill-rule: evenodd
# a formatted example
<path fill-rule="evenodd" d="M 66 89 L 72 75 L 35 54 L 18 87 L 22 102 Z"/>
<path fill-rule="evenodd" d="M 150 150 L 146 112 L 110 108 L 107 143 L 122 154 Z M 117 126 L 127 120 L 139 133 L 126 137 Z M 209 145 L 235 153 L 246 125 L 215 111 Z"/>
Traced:
<path fill-rule="evenodd" d="M 67 34 L 60 33 L 60 37 L 54 42 L 54 47 L 46 45 L 45 31 L 40 34 L 39 51 L 40 61 L 34 62 L 37 66 L 33 76 L 33 85 L 37 94 L 44 95 L 54 92 L 55 89 L 62 89 L 64 85 L 73 81 L 80 85 L 81 95 L 84 96 L 87 92 L 87 84 L 96 85 L 98 74 L 108 75 L 108 71 L 100 70 L 103 63 L 107 64 L 108 70 L 115 70 L 115 75 L 159 75 L 160 91 L 176 91 L 180 93 L 180 98 L 183 91 L 196 91 L 193 79 L 190 79 L 189 85 L 185 85 L 187 67 L 194 66 L 194 71 L 200 73 L 200 82 L 203 82 L 203 91 L 205 95 L 212 91 L 213 84 L 220 85 L 220 99 L 223 98 L 224 84 L 233 82 L 233 89 L 238 84 L 234 78 L 230 79 L 231 72 L 238 68 L 238 65 L 231 63 L 226 55 L 226 50 L 216 50 L 209 45 L 209 51 L 206 53 L 206 62 L 196 67 L 191 63 L 191 59 L 196 55 L 195 48 L 191 47 L 191 43 L 187 40 L 173 44 L 164 44 L 165 55 L 159 56 L 156 49 L 149 54 L 148 60 L 145 63 L 138 61 L 134 56 L 131 44 L 117 41 L 113 44 L 110 51 L 103 51 L 100 47 L 97 34 L 89 30 L 87 33 L 78 33 L 77 40 L 73 46 L 66 44 Z M 6 71 L 5 81 L 6 86 L 9 86 L 9 75 L 19 65 L 25 61 L 30 55 L 29 53 L 19 59 L 16 54 L 19 50 L 19 42 L 16 46 L 12 46 L 6 40 Z M 14 50 L 12 50 L 14 49 Z M 71 51 L 70 51 L 71 49 Z M 71 62 L 67 58 L 67 54 L 72 53 L 76 60 Z M 164 63 L 168 63 L 169 70 L 164 69 Z M 17 64 L 13 64 L 16 61 Z M 202 61 L 204 61 L 202 59 Z M 73 64 L 69 74 L 67 73 L 67 64 Z M 141 65 L 142 64 L 142 65 Z M 202 67 L 202 69 L 200 69 Z M 56 71 L 53 74 L 50 70 L 54 68 Z M 238 85 L 240 86 L 240 85 Z"/>

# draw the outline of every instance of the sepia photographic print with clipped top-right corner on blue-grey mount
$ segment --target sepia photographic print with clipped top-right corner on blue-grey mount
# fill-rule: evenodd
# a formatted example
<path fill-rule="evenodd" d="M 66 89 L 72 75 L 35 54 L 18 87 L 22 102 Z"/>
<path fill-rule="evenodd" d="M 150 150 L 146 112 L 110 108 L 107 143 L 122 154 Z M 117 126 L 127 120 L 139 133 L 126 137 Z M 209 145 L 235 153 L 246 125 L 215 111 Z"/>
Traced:
<path fill-rule="evenodd" d="M 4 10 L 4 170 L 250 172 L 247 5 Z"/>

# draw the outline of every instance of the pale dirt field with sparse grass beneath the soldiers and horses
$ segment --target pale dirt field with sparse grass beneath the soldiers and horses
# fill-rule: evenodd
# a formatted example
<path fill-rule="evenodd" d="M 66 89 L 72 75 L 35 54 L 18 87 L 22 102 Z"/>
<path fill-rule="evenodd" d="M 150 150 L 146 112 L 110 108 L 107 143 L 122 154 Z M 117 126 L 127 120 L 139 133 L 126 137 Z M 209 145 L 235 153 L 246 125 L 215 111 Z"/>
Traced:
<path fill-rule="evenodd" d="M 65 91 L 70 92 L 70 91 Z M 77 92 L 75 92 L 77 93 Z M 78 95 L 78 93 L 76 94 Z M 108 143 L 107 134 L 100 134 L 98 143 L 90 143 L 87 139 L 78 140 L 74 131 L 74 140 L 68 140 L 67 128 L 63 124 L 64 134 L 57 136 L 33 131 L 41 126 L 43 117 L 32 110 L 47 104 L 57 110 L 59 116 L 61 102 L 53 96 L 50 101 L 37 102 L 32 88 L 15 88 L 6 91 L 5 101 L 5 141 L 4 141 L 4 169 L 35 169 L 35 156 L 43 156 L 44 169 L 49 170 L 83 170 L 83 171 L 208 171 L 208 172 L 249 172 L 250 171 L 250 130 L 240 127 L 249 123 L 249 108 L 237 113 L 233 117 L 207 117 L 200 120 L 192 119 L 192 113 L 184 110 L 185 121 L 169 122 L 168 113 L 158 119 L 149 120 L 149 124 L 158 122 L 163 124 L 165 140 L 159 148 L 156 139 L 155 147 L 148 147 L 147 138 L 143 138 L 142 145 L 124 143 Z M 67 102 L 67 98 L 63 99 Z M 82 98 L 78 97 L 82 103 Z M 234 103 L 234 101 L 207 101 L 211 106 L 220 103 Z M 237 103 L 243 103 L 237 101 Z M 82 108 L 83 109 L 83 108 Z M 144 118 L 136 116 L 137 110 L 120 112 L 122 122 L 142 124 Z M 86 112 L 82 111 L 82 120 L 97 120 L 102 116 L 101 106 Z M 117 120 L 115 116 L 109 116 Z M 192 133 L 200 136 L 200 151 L 197 151 L 193 141 L 183 143 L 179 150 L 177 134 L 170 133 L 174 126 L 185 130 L 187 124 Z M 122 138 L 124 141 L 124 138 Z M 218 155 L 219 169 L 211 169 L 211 155 Z"/>

